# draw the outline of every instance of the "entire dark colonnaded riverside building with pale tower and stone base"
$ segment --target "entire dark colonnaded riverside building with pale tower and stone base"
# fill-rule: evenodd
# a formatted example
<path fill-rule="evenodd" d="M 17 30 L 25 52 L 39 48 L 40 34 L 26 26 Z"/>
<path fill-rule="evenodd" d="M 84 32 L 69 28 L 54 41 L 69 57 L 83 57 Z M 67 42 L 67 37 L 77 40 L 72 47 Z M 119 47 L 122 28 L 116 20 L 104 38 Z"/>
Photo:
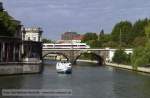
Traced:
<path fill-rule="evenodd" d="M 3 10 L 2 2 L 0 2 L 0 11 L 9 16 Z M 40 72 L 42 70 L 41 28 L 22 29 L 20 21 L 12 16 L 9 16 L 9 20 L 15 23 L 15 30 L 9 32 L 8 27 L 5 31 L 0 30 L 0 75 Z"/>

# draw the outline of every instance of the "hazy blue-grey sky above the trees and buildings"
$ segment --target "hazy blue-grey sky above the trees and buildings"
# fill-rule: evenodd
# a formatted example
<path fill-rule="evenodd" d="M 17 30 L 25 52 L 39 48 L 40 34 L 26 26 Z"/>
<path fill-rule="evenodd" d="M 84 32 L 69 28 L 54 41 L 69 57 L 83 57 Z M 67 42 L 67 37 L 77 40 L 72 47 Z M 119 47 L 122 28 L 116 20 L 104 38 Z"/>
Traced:
<path fill-rule="evenodd" d="M 0 0 L 5 10 L 26 27 L 42 27 L 43 37 L 60 39 L 63 32 L 106 33 L 121 20 L 150 17 L 150 0 Z"/>

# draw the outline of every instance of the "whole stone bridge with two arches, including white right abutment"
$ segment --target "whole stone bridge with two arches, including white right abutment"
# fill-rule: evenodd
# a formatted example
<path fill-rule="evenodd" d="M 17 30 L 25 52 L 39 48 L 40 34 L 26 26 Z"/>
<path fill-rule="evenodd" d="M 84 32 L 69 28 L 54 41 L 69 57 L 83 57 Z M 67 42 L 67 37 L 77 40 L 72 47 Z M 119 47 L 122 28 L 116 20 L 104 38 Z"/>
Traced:
<path fill-rule="evenodd" d="M 43 59 L 49 54 L 58 54 L 65 57 L 68 61 L 76 63 L 81 55 L 84 53 L 92 54 L 99 64 L 112 61 L 113 55 L 117 49 L 43 49 Z M 127 54 L 132 53 L 132 49 L 124 49 Z"/>

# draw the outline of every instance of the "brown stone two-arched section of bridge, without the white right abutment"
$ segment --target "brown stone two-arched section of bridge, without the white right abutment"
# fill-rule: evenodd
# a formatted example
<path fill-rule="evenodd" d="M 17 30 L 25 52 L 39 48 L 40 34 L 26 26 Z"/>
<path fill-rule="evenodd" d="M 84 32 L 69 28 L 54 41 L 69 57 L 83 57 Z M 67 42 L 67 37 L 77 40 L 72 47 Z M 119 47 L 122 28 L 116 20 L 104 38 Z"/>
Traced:
<path fill-rule="evenodd" d="M 96 56 L 97 60 L 100 61 L 100 64 L 105 62 L 106 57 L 108 56 L 107 50 L 99 50 L 99 49 L 51 49 L 51 50 L 44 50 L 43 57 L 48 54 L 60 54 L 63 55 L 68 61 L 71 63 L 76 63 L 76 60 L 83 54 L 83 53 L 91 53 Z M 99 58 L 99 59 L 98 59 Z M 103 59 L 103 62 L 102 62 Z"/>

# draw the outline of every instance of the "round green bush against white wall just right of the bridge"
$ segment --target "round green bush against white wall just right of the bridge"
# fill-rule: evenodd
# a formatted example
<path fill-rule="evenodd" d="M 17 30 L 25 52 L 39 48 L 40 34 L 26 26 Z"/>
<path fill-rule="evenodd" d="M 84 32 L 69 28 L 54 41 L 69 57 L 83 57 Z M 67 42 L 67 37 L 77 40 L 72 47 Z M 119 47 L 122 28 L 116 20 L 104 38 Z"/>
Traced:
<path fill-rule="evenodd" d="M 129 63 L 129 59 L 130 56 L 128 56 L 123 49 L 116 50 L 112 58 L 113 62 L 118 64 L 127 64 Z"/>

